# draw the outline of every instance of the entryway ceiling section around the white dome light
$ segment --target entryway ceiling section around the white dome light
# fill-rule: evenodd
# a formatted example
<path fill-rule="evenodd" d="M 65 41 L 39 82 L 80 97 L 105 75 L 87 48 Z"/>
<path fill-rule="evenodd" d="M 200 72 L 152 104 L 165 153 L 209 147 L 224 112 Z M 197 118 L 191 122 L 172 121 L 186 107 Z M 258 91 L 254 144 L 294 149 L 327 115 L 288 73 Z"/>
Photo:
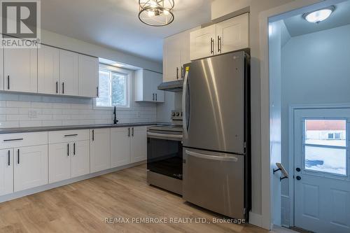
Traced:
<path fill-rule="evenodd" d="M 317 9 L 315 9 L 317 10 Z M 327 20 L 318 24 L 307 22 L 302 15 L 295 15 L 284 20 L 290 36 L 301 36 L 304 34 L 323 31 L 335 27 L 350 24 L 350 1 L 343 1 L 335 5 L 335 11 Z"/>

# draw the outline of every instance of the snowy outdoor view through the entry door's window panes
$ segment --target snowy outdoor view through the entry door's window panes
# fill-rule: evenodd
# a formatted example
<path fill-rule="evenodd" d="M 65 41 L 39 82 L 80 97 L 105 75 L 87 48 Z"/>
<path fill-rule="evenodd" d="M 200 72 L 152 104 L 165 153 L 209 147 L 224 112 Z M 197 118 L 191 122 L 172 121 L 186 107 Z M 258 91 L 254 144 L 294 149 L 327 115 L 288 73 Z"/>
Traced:
<path fill-rule="evenodd" d="M 304 120 L 307 170 L 346 176 L 346 120 Z"/>

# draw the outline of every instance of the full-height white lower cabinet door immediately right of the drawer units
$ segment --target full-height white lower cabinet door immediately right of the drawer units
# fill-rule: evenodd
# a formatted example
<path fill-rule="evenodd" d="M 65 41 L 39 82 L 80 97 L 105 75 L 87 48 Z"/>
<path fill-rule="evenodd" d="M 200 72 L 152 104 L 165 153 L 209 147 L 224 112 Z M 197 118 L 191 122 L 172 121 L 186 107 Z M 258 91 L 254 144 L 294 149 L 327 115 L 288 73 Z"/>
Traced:
<path fill-rule="evenodd" d="M 90 171 L 111 167 L 111 129 L 91 129 Z"/>

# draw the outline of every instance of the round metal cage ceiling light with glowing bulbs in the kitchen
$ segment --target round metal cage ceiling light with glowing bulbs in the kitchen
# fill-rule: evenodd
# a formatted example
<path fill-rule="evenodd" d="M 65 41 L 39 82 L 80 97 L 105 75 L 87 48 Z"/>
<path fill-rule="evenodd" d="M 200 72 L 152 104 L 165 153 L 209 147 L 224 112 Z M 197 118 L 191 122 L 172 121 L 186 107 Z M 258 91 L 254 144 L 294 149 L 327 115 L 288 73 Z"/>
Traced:
<path fill-rule="evenodd" d="M 139 19 L 144 24 L 161 27 L 174 21 L 174 0 L 139 0 Z"/>

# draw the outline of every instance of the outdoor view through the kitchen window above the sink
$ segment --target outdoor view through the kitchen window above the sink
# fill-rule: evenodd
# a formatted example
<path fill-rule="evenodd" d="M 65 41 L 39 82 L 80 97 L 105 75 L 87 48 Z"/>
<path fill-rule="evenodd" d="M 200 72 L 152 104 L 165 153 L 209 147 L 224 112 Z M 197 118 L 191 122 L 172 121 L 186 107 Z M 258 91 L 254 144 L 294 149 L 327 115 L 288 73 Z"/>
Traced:
<path fill-rule="evenodd" d="M 99 69 L 98 107 L 127 107 L 127 75 L 107 69 Z"/>

